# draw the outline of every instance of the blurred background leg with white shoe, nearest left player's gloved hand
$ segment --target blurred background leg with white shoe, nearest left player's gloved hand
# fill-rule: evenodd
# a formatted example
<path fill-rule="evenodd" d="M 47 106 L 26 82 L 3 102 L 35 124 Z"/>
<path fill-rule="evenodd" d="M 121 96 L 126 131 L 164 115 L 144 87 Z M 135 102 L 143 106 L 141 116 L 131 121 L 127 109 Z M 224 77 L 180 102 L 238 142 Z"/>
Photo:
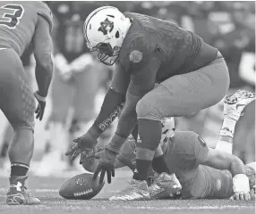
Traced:
<path fill-rule="evenodd" d="M 36 171 L 36 174 L 42 177 L 62 173 L 65 168 L 63 153 L 69 140 L 65 121 L 72 106 L 73 83 L 64 82 L 59 73 L 59 70 L 55 68 L 51 84 L 50 102 L 52 110 L 47 121 L 49 129 L 47 145 L 49 151 L 44 154 Z M 55 162 L 55 164 L 52 164 L 52 162 Z"/>

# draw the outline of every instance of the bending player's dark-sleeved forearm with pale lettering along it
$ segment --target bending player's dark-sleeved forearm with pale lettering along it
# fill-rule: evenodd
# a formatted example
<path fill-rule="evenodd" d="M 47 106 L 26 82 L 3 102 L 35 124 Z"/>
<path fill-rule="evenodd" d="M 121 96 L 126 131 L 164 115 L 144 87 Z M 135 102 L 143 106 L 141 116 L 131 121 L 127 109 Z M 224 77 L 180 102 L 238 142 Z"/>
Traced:
<path fill-rule="evenodd" d="M 98 138 L 98 136 L 110 126 L 115 118 L 117 118 L 124 107 L 124 102 L 124 94 L 117 93 L 113 88 L 109 88 L 98 117 L 89 129 L 89 132 L 95 138 Z"/>

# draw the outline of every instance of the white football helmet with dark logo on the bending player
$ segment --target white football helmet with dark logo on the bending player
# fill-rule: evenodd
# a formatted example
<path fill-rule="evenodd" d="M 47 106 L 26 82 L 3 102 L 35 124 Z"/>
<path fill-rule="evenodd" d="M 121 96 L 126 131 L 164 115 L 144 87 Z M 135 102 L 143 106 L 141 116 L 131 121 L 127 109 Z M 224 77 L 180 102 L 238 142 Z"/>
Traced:
<path fill-rule="evenodd" d="M 98 61 L 113 65 L 118 59 L 131 21 L 112 6 L 90 12 L 83 25 L 84 36 L 91 51 L 98 52 Z"/>

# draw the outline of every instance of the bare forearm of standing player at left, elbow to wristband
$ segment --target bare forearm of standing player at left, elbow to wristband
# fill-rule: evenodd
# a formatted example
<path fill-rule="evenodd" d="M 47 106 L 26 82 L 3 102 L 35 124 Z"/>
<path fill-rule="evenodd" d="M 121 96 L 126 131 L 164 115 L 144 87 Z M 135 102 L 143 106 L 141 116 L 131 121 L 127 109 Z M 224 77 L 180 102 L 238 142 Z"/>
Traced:
<path fill-rule="evenodd" d="M 46 97 L 53 77 L 53 62 L 50 60 L 46 65 L 37 63 L 35 72 L 38 83 L 38 93 Z"/>

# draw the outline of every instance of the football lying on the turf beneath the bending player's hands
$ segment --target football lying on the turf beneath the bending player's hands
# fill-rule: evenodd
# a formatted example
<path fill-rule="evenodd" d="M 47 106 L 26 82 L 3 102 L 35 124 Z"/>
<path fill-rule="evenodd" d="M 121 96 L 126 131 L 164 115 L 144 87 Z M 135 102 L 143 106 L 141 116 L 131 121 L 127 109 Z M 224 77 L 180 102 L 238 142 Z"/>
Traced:
<path fill-rule="evenodd" d="M 99 177 L 95 181 L 92 177 L 93 174 L 83 173 L 69 178 L 60 187 L 59 194 L 70 200 L 90 200 L 100 192 L 105 184 L 103 182 L 99 185 Z"/>

